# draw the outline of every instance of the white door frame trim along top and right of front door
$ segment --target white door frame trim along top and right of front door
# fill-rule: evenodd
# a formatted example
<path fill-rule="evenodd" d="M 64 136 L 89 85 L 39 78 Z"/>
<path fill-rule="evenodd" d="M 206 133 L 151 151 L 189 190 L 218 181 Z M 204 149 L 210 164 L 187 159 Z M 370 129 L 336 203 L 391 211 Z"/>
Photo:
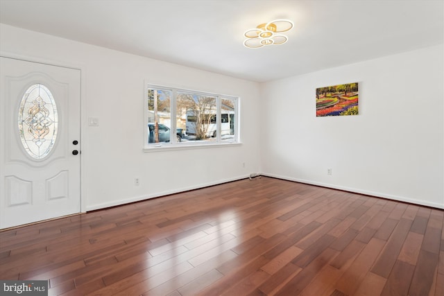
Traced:
<path fill-rule="evenodd" d="M 83 63 L 78 63 L 78 64 L 72 64 L 72 63 L 67 63 L 67 62 L 60 62 L 60 61 L 55 61 L 55 60 L 46 60 L 43 58 L 36 58 L 36 57 L 30 57 L 27 55 L 20 55 L 20 54 L 16 54 L 16 53 L 10 53 L 10 52 L 6 52 L 6 51 L 1 51 L 0 50 L 0 56 L 3 58 L 11 58 L 11 59 L 15 59 L 15 60 L 23 60 L 25 62 L 36 62 L 36 63 L 40 63 L 40 64 L 46 64 L 49 66 L 55 66 L 55 67 L 62 67 L 62 68 L 67 68 L 67 69 L 75 69 L 75 70 L 79 70 L 80 71 L 80 143 L 81 143 L 81 156 L 80 156 L 80 213 L 78 214 L 82 214 L 82 213 L 86 213 L 86 209 L 87 209 L 87 193 L 85 190 L 85 186 L 83 186 L 83 184 L 85 183 L 85 172 L 86 170 L 86 161 L 85 159 L 87 159 L 87 153 L 85 153 L 85 151 L 87 151 L 88 147 L 88 143 L 87 141 L 85 141 L 86 138 L 86 134 L 85 131 L 87 130 L 87 125 L 85 123 L 85 118 L 86 114 L 87 114 L 87 110 L 86 110 L 86 100 L 85 100 L 85 64 Z"/>

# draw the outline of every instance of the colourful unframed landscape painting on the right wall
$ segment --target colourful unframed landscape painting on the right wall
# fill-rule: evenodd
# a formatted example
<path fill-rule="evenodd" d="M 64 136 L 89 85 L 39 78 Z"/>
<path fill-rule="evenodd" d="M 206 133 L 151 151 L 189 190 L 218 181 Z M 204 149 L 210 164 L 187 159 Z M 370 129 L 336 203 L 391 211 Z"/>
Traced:
<path fill-rule="evenodd" d="M 316 116 L 357 115 L 358 83 L 316 89 Z"/>

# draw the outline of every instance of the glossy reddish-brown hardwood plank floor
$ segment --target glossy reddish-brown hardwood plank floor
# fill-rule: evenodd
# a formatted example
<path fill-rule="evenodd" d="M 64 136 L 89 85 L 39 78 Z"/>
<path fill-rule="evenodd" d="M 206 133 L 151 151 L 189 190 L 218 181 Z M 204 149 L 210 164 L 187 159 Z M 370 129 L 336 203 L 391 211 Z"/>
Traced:
<path fill-rule="evenodd" d="M 444 211 L 269 177 L 0 232 L 49 295 L 444 295 Z"/>

